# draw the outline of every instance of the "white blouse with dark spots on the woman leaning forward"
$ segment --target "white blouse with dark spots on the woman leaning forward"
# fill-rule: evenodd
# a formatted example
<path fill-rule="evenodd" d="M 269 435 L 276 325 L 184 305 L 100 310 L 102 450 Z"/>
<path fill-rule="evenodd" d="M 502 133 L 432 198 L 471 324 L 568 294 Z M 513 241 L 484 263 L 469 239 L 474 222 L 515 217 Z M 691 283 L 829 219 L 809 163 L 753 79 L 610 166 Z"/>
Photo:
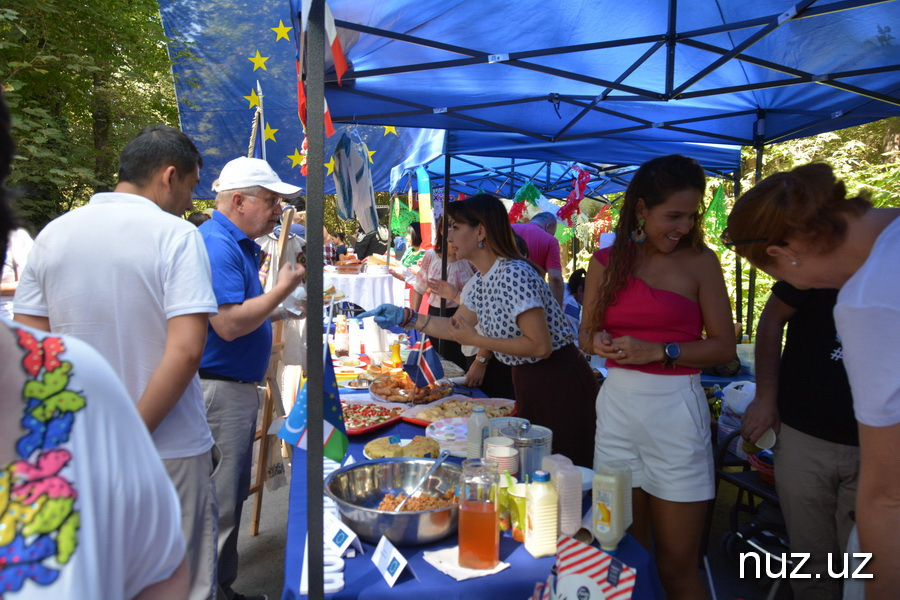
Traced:
<path fill-rule="evenodd" d="M 520 337 L 522 330 L 516 318 L 532 308 L 543 308 L 553 349 L 558 350 L 575 341 L 547 282 L 525 261 L 498 258 L 483 276 L 476 272 L 463 289 L 462 303 L 476 314 L 478 324 L 487 337 Z M 501 352 L 494 355 L 507 365 L 524 365 L 541 360 Z"/>

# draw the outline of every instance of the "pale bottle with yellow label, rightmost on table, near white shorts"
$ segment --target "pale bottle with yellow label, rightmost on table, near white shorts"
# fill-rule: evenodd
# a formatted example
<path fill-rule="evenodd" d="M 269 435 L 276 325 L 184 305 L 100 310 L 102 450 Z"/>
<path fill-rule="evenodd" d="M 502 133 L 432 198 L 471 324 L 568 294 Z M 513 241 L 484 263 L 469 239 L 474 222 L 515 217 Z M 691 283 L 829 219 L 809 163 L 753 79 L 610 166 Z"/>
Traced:
<path fill-rule="evenodd" d="M 594 537 L 615 554 L 631 525 L 631 469 L 624 463 L 601 464 L 594 473 Z"/>

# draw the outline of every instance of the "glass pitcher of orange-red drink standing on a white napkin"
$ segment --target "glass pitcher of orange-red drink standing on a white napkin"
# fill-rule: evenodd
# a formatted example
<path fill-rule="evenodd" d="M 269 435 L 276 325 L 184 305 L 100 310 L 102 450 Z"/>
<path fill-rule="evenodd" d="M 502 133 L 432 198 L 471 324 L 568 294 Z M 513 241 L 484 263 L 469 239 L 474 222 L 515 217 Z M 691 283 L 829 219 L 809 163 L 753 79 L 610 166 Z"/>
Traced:
<path fill-rule="evenodd" d="M 497 461 L 464 460 L 459 503 L 459 566 L 492 569 L 500 562 Z"/>

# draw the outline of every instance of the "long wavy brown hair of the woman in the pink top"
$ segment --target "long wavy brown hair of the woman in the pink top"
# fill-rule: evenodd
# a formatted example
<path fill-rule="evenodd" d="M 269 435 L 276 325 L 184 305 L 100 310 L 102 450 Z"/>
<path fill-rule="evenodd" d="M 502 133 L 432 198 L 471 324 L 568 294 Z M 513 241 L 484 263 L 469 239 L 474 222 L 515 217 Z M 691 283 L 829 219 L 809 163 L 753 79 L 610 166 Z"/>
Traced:
<path fill-rule="evenodd" d="M 705 189 L 706 175 L 703 167 L 696 160 L 680 154 L 654 158 L 642 164 L 637 170 L 631 183 L 628 184 L 628 189 L 625 190 L 625 198 L 619 211 L 619 223 L 616 225 L 616 239 L 610 249 L 609 265 L 606 268 L 605 279 L 600 284 L 597 305 L 593 311 L 586 311 L 586 314 L 592 317 L 590 324 L 592 333 L 602 329 L 606 310 L 616 301 L 619 292 L 625 289 L 634 270 L 637 244 L 631 239 L 631 232 L 638 228 L 638 201 L 643 199 L 644 206 L 647 210 L 651 210 L 677 192 L 697 190 L 702 195 Z M 679 247 L 690 247 L 699 251 L 706 246 L 701 229 L 705 210 L 705 205 L 701 201 L 700 212 L 694 226 L 681 238 Z"/>

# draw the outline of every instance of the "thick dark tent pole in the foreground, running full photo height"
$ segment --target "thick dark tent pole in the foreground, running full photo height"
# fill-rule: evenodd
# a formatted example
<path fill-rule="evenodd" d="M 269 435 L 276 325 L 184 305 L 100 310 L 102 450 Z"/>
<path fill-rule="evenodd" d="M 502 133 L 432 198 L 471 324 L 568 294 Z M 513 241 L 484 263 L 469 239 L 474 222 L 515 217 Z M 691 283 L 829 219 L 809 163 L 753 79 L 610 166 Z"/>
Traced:
<path fill-rule="evenodd" d="M 306 46 L 308 69 L 307 84 L 307 135 L 309 136 L 308 161 L 310 165 L 325 164 L 325 0 L 313 0 L 309 12 Z M 325 597 L 324 507 L 322 461 L 324 460 L 324 342 L 322 340 L 322 291 L 324 243 L 322 229 L 325 225 L 325 174 L 321 168 L 309 169 L 306 178 L 307 206 L 307 273 L 306 291 L 309 299 L 310 319 L 307 319 L 306 365 L 307 419 L 309 427 L 306 453 L 306 531 L 309 542 L 306 560 L 309 567 L 309 598 Z"/>

